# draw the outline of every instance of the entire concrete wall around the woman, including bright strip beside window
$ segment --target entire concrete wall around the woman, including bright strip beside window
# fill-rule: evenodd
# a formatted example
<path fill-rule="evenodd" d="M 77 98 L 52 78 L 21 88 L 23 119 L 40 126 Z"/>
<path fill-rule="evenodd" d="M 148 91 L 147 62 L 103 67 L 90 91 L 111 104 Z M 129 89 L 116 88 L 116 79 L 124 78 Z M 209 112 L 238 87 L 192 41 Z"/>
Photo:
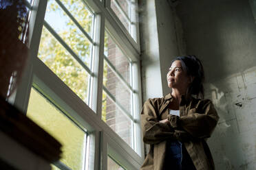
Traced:
<path fill-rule="evenodd" d="M 171 0 L 142 2 L 153 3 L 142 12 L 153 14 L 142 20 L 144 101 L 160 96 L 161 90 L 153 93 L 157 88 L 162 94 L 169 90 L 165 75 L 174 56 L 198 55 L 206 72 L 206 98 L 220 115 L 208 141 L 216 169 L 256 169 L 255 0 L 182 0 L 175 8 L 167 8 Z"/>

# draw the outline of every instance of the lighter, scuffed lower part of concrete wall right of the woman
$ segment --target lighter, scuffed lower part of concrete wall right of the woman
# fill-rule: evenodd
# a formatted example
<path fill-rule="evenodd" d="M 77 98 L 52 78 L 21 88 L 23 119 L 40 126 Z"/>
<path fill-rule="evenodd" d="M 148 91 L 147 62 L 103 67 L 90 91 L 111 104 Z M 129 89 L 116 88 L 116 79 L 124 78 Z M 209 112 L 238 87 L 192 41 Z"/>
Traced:
<path fill-rule="evenodd" d="M 209 139 L 216 169 L 256 169 L 256 66 L 206 84 L 220 116 Z"/>

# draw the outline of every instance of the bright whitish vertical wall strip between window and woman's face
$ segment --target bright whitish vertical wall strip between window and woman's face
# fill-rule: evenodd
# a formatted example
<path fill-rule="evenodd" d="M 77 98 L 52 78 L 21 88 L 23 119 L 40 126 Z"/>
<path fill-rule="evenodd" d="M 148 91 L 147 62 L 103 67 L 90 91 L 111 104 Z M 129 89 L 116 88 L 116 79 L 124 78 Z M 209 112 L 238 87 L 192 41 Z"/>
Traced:
<path fill-rule="evenodd" d="M 156 0 L 140 1 L 142 99 L 162 96 Z"/>

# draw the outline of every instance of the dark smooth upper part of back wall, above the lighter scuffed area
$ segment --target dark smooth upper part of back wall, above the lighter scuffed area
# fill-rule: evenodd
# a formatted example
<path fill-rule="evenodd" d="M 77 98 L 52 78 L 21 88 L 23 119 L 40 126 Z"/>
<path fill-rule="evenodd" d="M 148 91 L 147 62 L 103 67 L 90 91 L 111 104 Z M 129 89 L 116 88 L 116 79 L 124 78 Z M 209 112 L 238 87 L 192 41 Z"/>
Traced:
<path fill-rule="evenodd" d="M 202 60 L 208 82 L 255 66 L 256 25 L 248 1 L 180 1 L 186 52 Z"/>

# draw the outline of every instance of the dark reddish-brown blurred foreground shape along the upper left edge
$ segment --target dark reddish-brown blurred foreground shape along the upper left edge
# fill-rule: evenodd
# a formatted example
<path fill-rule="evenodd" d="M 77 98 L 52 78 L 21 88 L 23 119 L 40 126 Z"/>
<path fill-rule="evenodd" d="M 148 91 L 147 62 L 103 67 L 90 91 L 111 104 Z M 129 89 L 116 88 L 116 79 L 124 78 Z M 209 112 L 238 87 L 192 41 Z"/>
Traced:
<path fill-rule="evenodd" d="M 0 25 L 0 95 L 6 98 L 19 84 L 28 58 L 25 1 L 1 0 Z"/>

